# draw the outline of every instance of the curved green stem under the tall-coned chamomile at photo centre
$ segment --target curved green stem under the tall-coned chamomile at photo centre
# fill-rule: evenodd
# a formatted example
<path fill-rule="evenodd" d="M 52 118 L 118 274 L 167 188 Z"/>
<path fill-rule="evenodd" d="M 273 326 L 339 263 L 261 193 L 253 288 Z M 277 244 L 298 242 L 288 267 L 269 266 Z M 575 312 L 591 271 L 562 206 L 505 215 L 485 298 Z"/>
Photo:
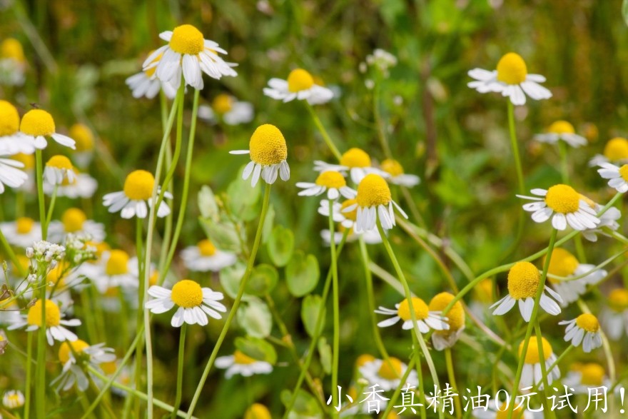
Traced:
<path fill-rule="evenodd" d="M 231 311 L 227 316 L 227 320 L 225 325 L 223 326 L 223 330 L 221 331 L 221 335 L 218 336 L 218 340 L 216 341 L 216 345 L 213 347 L 211 351 L 211 355 L 209 360 L 207 361 L 207 365 L 205 366 L 205 370 L 203 370 L 203 375 L 201 375 L 201 380 L 198 382 L 198 386 L 196 387 L 196 391 L 194 392 L 194 396 L 192 398 L 192 402 L 190 403 L 190 408 L 188 409 L 187 418 L 192 417 L 192 413 L 194 413 L 194 409 L 196 408 L 196 403 L 198 403 L 198 398 L 201 397 L 201 390 L 203 390 L 203 386 L 207 380 L 209 375 L 209 371 L 213 365 L 214 360 L 216 360 L 216 356 L 218 356 L 218 351 L 221 349 L 223 345 L 223 341 L 227 335 L 229 330 L 229 326 L 231 325 L 231 321 L 236 316 L 236 312 L 238 311 L 238 307 L 240 306 L 240 301 L 242 300 L 242 296 L 244 295 L 244 290 L 246 288 L 246 283 L 248 283 L 248 278 L 250 278 L 250 273 L 253 271 L 253 265 L 255 264 L 255 257 L 258 254 L 258 249 L 260 247 L 260 241 L 262 240 L 262 230 L 264 226 L 264 221 L 266 218 L 266 213 L 268 213 L 268 203 L 270 202 L 270 183 L 266 183 L 264 190 L 264 201 L 262 203 L 262 213 L 260 215 L 260 222 L 258 224 L 257 232 L 255 233 L 255 241 L 253 242 L 253 250 L 250 252 L 250 258 L 248 258 L 248 263 L 246 266 L 246 271 L 244 272 L 244 276 L 242 277 L 242 281 L 240 281 L 240 289 L 238 289 L 238 295 L 236 296 L 236 300 L 233 301 L 233 306 L 231 307 Z"/>

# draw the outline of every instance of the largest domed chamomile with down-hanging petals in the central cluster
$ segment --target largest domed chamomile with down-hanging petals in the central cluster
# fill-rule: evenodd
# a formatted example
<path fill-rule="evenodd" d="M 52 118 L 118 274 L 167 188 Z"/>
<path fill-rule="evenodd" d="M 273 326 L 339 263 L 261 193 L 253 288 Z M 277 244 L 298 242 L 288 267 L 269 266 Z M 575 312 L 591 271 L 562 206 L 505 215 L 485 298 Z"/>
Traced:
<path fill-rule="evenodd" d="M 360 181 L 358 194 L 355 196 L 355 204 L 344 209 L 350 212 L 358 209 L 355 216 L 355 232 L 373 230 L 379 220 L 384 230 L 390 230 L 396 225 L 395 211 L 404 217 L 407 215 L 400 206 L 393 201 L 390 195 L 390 188 L 385 179 L 375 173 L 370 173 Z"/>

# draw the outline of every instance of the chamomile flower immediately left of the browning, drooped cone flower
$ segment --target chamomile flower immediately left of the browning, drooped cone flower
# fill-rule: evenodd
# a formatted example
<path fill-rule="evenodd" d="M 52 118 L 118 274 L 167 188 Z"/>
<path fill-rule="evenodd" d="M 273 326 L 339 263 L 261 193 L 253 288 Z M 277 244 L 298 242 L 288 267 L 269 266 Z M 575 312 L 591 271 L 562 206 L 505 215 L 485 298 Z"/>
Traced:
<path fill-rule="evenodd" d="M 385 308 L 380 306 L 375 313 L 390 315 L 390 318 L 380 321 L 378 326 L 380 328 L 388 328 L 397 324 L 399 320 L 403 320 L 401 328 L 403 330 L 410 330 L 412 326 L 412 315 L 410 314 L 410 303 L 407 298 L 401 303 L 395 304 L 396 310 L 391 308 Z M 430 329 L 434 330 L 448 330 L 449 324 L 447 324 L 447 318 L 440 315 L 440 311 L 430 311 L 430 308 L 425 304 L 425 301 L 418 297 L 412 297 L 412 308 L 415 310 L 415 317 L 417 319 L 417 325 L 421 333 L 427 333 Z"/>

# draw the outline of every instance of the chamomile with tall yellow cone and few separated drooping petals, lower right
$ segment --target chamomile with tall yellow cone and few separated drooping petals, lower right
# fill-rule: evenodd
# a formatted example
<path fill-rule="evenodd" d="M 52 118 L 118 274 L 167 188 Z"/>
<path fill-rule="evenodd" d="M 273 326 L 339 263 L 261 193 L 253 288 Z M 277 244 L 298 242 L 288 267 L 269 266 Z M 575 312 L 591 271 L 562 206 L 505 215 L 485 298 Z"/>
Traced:
<path fill-rule="evenodd" d="M 508 295 L 490 306 L 490 308 L 495 308 L 493 314 L 502 315 L 508 313 L 518 301 L 519 311 L 523 320 L 530 321 L 540 283 L 541 273 L 536 266 L 530 262 L 515 263 L 508 272 Z M 562 303 L 561 296 L 545 286 L 545 290 L 541 294 L 541 308 L 551 315 L 559 314 L 560 306 L 556 301 L 548 297 L 545 291 L 554 297 L 556 301 Z"/>

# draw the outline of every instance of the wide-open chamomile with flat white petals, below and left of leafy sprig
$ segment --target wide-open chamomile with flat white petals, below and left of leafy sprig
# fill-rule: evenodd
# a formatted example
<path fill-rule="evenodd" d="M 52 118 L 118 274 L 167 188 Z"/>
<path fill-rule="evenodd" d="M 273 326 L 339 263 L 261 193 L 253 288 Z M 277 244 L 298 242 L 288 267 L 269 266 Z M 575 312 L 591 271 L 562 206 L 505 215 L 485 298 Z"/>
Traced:
<path fill-rule="evenodd" d="M 148 288 L 148 295 L 154 299 L 144 306 L 155 314 L 166 313 L 174 306 L 178 306 L 172 316 L 173 328 L 180 328 L 183 322 L 188 325 L 197 324 L 204 326 L 208 323 L 207 316 L 220 320 L 221 314 L 226 313 L 227 308 L 221 301 L 223 293 L 211 291 L 211 288 L 201 288 L 198 283 L 189 279 L 183 279 L 174 284 L 172 290 L 161 286 Z"/>

